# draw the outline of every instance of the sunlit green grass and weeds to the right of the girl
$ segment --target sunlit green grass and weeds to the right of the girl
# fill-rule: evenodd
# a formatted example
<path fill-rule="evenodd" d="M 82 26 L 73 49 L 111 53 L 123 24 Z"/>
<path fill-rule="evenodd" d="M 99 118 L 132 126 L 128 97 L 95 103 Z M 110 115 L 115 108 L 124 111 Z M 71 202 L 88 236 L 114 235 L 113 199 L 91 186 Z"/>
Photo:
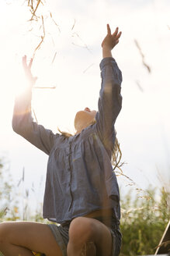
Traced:
<path fill-rule="evenodd" d="M 131 199 L 130 193 L 122 201 L 121 232 L 123 241 L 120 256 L 154 254 L 170 218 L 168 198 L 162 187 L 160 198 L 155 200 L 155 189 L 147 190 L 147 196 Z"/>

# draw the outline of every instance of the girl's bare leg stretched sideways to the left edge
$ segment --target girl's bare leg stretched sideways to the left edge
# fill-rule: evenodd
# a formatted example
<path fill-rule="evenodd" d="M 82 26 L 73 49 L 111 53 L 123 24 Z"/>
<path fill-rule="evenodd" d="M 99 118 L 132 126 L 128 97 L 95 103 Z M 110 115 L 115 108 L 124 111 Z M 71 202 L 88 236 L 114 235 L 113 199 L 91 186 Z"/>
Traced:
<path fill-rule="evenodd" d="M 49 226 L 36 222 L 1 223 L 0 251 L 5 256 L 33 256 L 32 251 L 47 256 L 62 255 Z"/>

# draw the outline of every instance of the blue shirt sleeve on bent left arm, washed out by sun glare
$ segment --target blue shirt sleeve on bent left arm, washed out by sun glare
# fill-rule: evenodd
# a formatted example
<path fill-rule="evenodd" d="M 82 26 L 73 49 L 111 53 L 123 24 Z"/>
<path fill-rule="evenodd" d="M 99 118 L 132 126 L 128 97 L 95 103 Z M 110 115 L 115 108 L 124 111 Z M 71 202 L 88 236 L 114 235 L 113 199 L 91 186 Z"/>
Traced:
<path fill-rule="evenodd" d="M 33 122 L 31 115 L 31 89 L 28 89 L 26 93 L 16 98 L 12 128 L 13 130 L 28 140 L 31 144 L 39 148 L 47 155 L 50 154 L 50 150 L 54 146 L 54 140 L 57 135 L 51 130 L 45 129 L 43 126 Z"/>

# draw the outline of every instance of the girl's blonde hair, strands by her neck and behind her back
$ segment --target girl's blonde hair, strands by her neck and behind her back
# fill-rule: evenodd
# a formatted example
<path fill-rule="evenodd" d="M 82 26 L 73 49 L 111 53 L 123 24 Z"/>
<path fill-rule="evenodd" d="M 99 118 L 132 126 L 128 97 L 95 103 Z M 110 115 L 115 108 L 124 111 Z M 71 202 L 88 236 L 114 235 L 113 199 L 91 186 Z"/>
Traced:
<path fill-rule="evenodd" d="M 95 118 L 92 119 L 92 121 L 90 123 L 88 123 L 87 126 L 91 126 L 93 124 L 95 124 L 96 121 L 95 121 Z M 64 131 L 61 131 L 59 128 L 57 128 L 57 130 L 61 133 L 61 135 L 63 135 L 64 137 L 71 137 L 71 136 L 74 136 L 73 134 L 71 133 L 68 133 L 68 132 L 64 132 Z M 117 173 L 119 174 L 122 174 L 123 171 L 121 169 L 121 166 L 123 165 L 122 162 L 120 162 L 122 158 L 122 151 L 120 150 L 120 144 L 119 144 L 119 141 L 117 140 L 117 138 L 115 139 L 115 144 L 114 144 L 114 147 L 113 147 L 113 154 L 112 154 L 112 165 L 113 165 L 113 170 L 115 170 L 116 168 L 119 169 L 119 171 Z"/>

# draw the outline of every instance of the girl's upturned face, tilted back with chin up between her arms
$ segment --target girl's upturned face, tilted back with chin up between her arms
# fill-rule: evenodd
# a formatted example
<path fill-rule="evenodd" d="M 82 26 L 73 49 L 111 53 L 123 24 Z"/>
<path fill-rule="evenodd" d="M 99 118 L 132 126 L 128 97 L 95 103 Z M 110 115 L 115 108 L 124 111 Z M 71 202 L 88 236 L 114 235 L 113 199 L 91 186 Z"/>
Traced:
<path fill-rule="evenodd" d="M 78 111 L 75 115 L 75 130 L 82 130 L 92 123 L 95 118 L 96 111 L 85 108 L 84 110 Z"/>

